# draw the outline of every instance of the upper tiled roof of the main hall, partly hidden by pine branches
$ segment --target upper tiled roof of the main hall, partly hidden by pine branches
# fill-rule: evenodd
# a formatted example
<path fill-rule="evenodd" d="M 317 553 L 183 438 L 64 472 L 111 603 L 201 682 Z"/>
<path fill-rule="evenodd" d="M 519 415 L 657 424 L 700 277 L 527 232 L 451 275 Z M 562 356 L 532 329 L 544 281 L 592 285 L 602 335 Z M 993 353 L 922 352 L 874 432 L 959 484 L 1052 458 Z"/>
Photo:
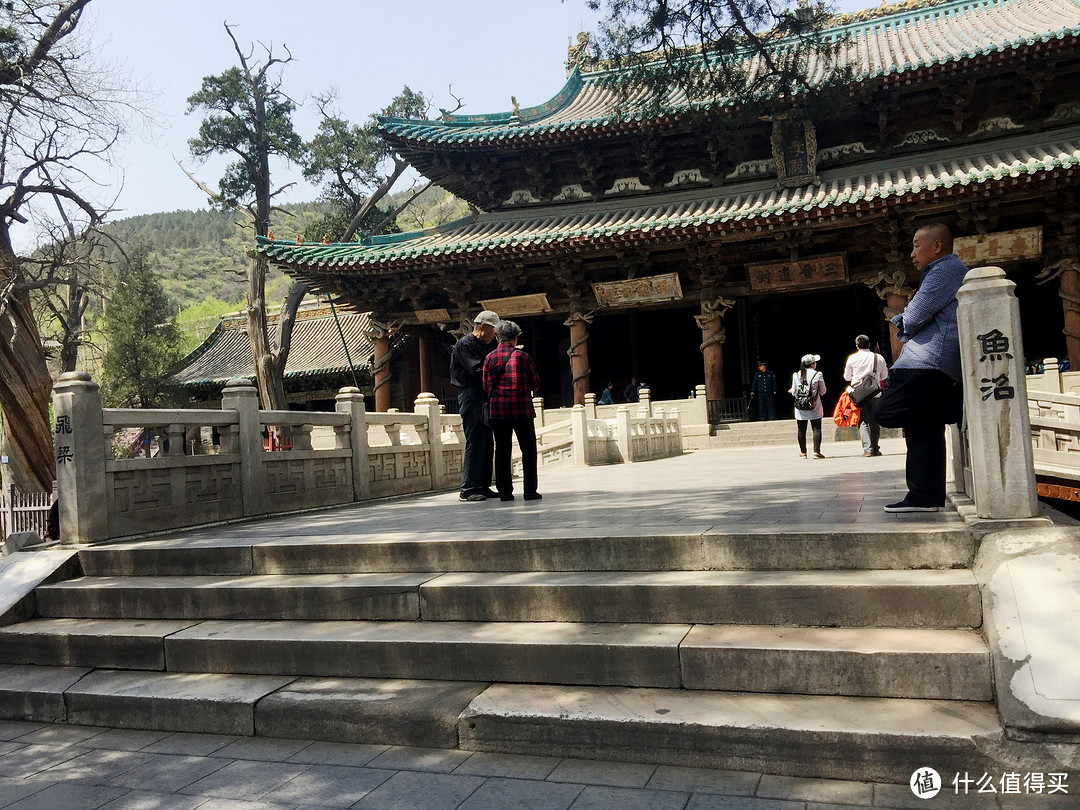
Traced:
<path fill-rule="evenodd" d="M 847 37 L 841 58 L 856 78 L 867 80 L 957 62 L 1039 42 L 1080 35 L 1077 0 L 953 0 L 939 4 L 902 3 L 878 15 L 834 17 L 826 39 Z M 751 70 L 758 65 L 752 63 Z M 812 72 L 821 80 L 825 65 Z M 604 71 L 571 75 L 550 102 L 487 116 L 449 116 L 436 121 L 381 119 L 392 139 L 413 144 L 498 144 L 518 139 L 588 134 L 616 123 L 615 96 L 602 85 Z M 686 98 L 666 99 L 673 111 Z"/>

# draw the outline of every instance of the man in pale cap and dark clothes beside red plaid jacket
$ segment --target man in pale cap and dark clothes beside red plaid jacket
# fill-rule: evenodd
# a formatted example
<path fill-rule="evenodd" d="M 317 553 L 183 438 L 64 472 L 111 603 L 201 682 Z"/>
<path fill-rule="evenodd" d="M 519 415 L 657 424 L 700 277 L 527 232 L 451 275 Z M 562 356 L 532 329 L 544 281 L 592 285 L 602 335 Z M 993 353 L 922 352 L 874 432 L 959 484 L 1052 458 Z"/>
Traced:
<path fill-rule="evenodd" d="M 473 319 L 474 328 L 454 345 L 450 353 L 450 382 L 458 389 L 458 413 L 465 434 L 461 461 L 461 492 L 458 500 L 483 501 L 494 498 L 491 457 L 495 441 L 484 424 L 484 360 L 494 348 L 499 316 L 489 309 Z"/>

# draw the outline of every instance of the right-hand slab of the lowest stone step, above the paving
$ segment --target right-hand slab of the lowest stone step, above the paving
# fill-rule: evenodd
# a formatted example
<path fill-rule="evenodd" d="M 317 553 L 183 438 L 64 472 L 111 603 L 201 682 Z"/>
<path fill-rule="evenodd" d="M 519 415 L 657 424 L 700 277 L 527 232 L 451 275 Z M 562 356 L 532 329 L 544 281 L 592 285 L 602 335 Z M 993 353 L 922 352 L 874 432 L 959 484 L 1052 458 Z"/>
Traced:
<path fill-rule="evenodd" d="M 469 751 L 907 783 L 994 772 L 988 703 L 495 684 L 461 717 Z"/>

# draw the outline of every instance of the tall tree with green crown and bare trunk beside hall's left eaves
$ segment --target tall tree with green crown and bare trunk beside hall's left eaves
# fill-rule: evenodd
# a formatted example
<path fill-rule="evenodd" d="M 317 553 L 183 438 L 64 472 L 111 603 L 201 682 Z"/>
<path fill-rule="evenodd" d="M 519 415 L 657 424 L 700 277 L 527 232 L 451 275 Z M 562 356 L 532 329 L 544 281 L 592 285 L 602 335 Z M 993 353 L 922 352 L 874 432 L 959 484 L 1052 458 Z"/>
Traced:
<path fill-rule="evenodd" d="M 206 189 L 211 202 L 225 210 L 244 212 L 252 220 L 255 235 L 266 237 L 270 230 L 273 199 L 284 191 L 284 188 L 271 188 L 271 159 L 293 162 L 303 153 L 302 141 L 293 129 L 295 105 L 281 86 L 279 66 L 288 64 L 293 57 L 289 54 L 286 58 L 278 58 L 271 49 L 265 49 L 265 58 L 255 60 L 252 53 L 240 48 L 228 24 L 225 30 L 232 40 L 240 66 L 205 77 L 201 89 L 188 98 L 189 113 L 204 113 L 199 136 L 188 146 L 199 160 L 212 154 L 237 158 L 221 177 L 218 191 Z M 291 291 L 286 309 L 292 315 L 283 314 L 274 346 L 267 328 L 268 265 L 266 257 L 259 254 L 254 254 L 248 265 L 247 336 L 262 407 L 285 409 L 288 405 L 283 374 L 292 342 L 293 315 L 303 292 L 298 291 L 293 303 Z"/>

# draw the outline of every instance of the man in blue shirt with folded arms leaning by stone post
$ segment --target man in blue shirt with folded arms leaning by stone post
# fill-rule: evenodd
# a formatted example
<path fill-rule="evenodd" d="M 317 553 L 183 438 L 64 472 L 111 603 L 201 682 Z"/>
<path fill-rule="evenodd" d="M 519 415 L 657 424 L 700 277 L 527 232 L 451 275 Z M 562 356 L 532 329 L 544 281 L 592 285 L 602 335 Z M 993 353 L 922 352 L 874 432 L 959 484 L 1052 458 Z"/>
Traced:
<path fill-rule="evenodd" d="M 967 266 L 953 253 L 947 226 L 924 225 L 912 240 L 919 289 L 892 318 L 904 348 L 874 411 L 878 424 L 903 428 L 907 495 L 886 512 L 936 512 L 945 505 L 945 426 L 960 421 L 960 333 L 956 294 Z"/>

